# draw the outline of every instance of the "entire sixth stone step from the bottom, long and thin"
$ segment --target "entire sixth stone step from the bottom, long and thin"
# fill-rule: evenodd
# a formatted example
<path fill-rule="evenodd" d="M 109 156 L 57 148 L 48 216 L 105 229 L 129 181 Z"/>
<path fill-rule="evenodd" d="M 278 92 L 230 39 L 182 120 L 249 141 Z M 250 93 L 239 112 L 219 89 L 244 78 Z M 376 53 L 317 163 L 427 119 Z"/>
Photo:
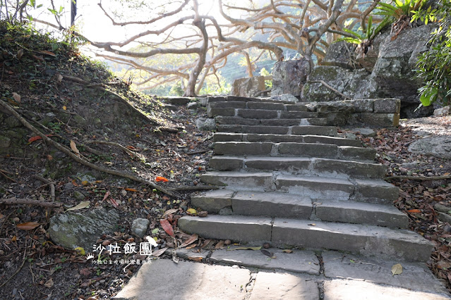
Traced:
<path fill-rule="evenodd" d="M 362 143 L 359 139 L 344 139 L 343 137 L 327 137 L 320 135 L 271 135 L 255 133 L 241 134 L 233 132 L 217 132 L 213 136 L 213 142 L 294 142 L 334 144 L 337 146 L 362 146 Z"/>

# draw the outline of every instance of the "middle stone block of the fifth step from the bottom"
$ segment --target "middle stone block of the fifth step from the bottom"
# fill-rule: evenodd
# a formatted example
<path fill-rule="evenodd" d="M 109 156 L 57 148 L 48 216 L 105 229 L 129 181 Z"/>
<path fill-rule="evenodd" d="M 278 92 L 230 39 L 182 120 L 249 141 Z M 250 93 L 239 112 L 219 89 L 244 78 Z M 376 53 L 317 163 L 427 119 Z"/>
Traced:
<path fill-rule="evenodd" d="M 337 145 L 308 144 L 308 143 L 280 143 L 279 154 L 287 156 L 308 156 L 337 158 Z"/>

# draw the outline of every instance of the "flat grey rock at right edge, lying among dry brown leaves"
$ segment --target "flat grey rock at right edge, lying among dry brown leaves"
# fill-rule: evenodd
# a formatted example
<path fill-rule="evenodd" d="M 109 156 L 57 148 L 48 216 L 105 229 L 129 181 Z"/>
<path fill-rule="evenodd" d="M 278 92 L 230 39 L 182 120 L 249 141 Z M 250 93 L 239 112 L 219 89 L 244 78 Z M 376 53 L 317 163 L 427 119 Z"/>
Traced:
<path fill-rule="evenodd" d="M 433 155 L 439 158 L 451 158 L 451 137 L 423 137 L 409 146 L 416 154 Z"/>

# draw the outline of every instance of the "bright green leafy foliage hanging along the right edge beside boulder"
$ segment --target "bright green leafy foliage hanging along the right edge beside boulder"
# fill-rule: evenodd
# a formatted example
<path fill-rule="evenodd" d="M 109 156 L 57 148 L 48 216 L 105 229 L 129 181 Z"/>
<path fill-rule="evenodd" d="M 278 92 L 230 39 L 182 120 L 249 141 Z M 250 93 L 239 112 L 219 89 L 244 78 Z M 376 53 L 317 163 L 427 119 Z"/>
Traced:
<path fill-rule="evenodd" d="M 431 48 L 416 63 L 417 76 L 425 82 L 419 89 L 423 106 L 435 101 L 451 104 L 451 1 L 440 0 L 437 10 L 432 12 L 440 20 L 439 26 L 428 42 Z"/>

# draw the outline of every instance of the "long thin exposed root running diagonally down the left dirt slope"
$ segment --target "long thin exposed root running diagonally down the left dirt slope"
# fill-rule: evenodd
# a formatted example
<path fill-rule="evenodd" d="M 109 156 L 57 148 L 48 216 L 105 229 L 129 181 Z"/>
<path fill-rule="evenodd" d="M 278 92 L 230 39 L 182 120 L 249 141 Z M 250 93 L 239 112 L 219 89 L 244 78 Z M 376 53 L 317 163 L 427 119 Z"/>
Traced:
<path fill-rule="evenodd" d="M 164 194 L 168 194 L 169 196 L 174 196 L 174 194 L 172 192 L 169 192 L 167 189 L 164 189 L 163 187 L 160 187 L 159 185 L 155 185 L 155 183 L 150 182 L 148 180 L 145 180 L 143 178 L 140 177 L 136 177 L 133 175 L 129 175 L 126 173 L 122 173 L 116 170 L 110 170 L 107 168 L 103 168 L 100 167 L 98 165 L 95 165 L 93 163 L 90 163 L 89 161 L 86 161 L 83 158 L 80 158 L 78 156 L 76 156 L 76 154 L 74 154 L 71 150 L 69 150 L 68 148 L 66 148 L 65 146 L 59 144 L 58 142 L 55 142 L 53 139 L 50 139 L 49 137 L 47 137 L 46 135 L 44 135 L 42 132 L 40 132 L 39 130 L 36 129 L 36 127 L 34 127 L 33 125 L 31 125 L 30 123 L 28 123 L 27 120 L 25 120 L 25 118 L 23 118 L 14 108 L 12 108 L 11 106 L 9 106 L 9 104 L 7 104 L 5 101 L 0 101 L 0 106 L 4 107 L 7 111 L 9 111 L 12 115 L 14 115 L 16 118 L 18 118 L 18 120 L 20 120 L 20 123 L 22 123 L 25 127 L 27 127 L 29 130 L 31 130 L 32 132 L 34 132 L 36 135 L 39 135 L 40 137 L 42 137 L 42 139 L 51 144 L 52 146 L 54 146 L 56 149 L 59 149 L 60 151 L 62 151 L 64 154 L 67 154 L 68 156 L 70 156 L 74 161 L 81 163 L 83 165 L 86 165 L 90 168 L 93 168 L 95 170 L 99 170 L 100 172 L 104 172 L 104 173 L 108 173 L 111 175 L 116 175 L 116 176 L 120 176 L 120 177 L 124 177 L 124 178 L 128 178 L 130 180 L 134 180 L 136 182 L 141 182 L 144 183 L 145 185 L 149 185 L 150 187 L 152 187 L 153 189 L 157 189 L 160 192 L 163 192 Z"/>

